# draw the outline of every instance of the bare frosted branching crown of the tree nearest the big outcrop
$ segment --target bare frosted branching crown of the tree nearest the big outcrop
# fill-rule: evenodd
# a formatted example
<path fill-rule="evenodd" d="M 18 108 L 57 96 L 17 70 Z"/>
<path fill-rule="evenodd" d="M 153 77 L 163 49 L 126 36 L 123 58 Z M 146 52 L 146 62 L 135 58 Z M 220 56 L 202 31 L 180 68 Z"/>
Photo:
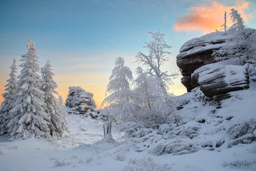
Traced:
<path fill-rule="evenodd" d="M 160 33 L 159 30 L 156 33 L 148 33 L 150 33 L 153 38 L 152 41 L 146 42 L 146 46 L 144 46 L 144 48 L 149 50 L 149 54 L 145 55 L 142 52 L 139 52 L 136 55 L 136 61 L 147 66 L 147 72 L 159 79 L 163 95 L 167 95 L 166 89 L 168 88 L 168 84 L 173 83 L 173 78 L 178 74 L 167 74 L 167 71 L 161 71 L 161 66 L 166 60 L 169 60 L 166 54 L 170 54 L 168 49 L 172 47 L 166 44 L 163 39 L 164 34 Z"/>

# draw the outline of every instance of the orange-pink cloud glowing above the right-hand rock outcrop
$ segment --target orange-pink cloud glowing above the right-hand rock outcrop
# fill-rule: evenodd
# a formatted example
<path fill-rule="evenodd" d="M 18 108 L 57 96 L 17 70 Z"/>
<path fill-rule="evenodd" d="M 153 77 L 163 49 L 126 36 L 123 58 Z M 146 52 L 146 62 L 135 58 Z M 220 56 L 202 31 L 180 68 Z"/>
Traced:
<path fill-rule="evenodd" d="M 177 18 L 174 25 L 175 31 L 202 31 L 203 33 L 213 32 L 216 29 L 220 30 L 221 25 L 224 24 L 224 12 L 227 12 L 227 26 L 231 26 L 229 13 L 230 9 L 234 8 L 238 10 L 244 19 L 245 23 L 248 23 L 252 14 L 246 14 L 245 9 L 248 9 L 249 2 L 237 1 L 235 6 L 224 6 L 219 2 L 212 2 L 210 6 L 197 6 L 188 8 L 188 14 Z"/>

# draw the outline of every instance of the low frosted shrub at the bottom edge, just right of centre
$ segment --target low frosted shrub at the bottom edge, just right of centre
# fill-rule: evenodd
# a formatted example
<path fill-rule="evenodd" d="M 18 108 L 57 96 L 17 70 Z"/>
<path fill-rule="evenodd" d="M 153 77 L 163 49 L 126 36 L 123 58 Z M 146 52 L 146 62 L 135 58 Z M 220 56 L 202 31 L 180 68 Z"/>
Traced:
<path fill-rule="evenodd" d="M 157 164 L 150 157 L 144 159 L 131 159 L 129 165 L 124 167 L 124 171 L 167 171 L 170 170 L 168 164 Z"/>

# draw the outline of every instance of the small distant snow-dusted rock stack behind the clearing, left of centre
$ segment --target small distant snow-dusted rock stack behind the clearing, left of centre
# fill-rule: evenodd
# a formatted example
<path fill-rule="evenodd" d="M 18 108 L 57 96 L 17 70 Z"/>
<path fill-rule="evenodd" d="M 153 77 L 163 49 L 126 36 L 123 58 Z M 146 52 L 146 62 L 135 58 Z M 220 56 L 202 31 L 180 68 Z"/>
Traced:
<path fill-rule="evenodd" d="M 66 100 L 66 106 L 76 111 L 77 114 L 95 111 L 96 104 L 93 100 L 93 94 L 86 92 L 80 87 L 70 87 L 69 95 Z"/>

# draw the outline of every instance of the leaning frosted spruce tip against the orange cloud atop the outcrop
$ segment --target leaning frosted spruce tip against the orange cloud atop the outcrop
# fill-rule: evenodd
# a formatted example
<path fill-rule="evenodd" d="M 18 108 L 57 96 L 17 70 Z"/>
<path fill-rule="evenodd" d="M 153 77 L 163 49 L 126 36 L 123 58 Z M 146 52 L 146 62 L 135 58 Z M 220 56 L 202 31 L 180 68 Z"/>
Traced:
<path fill-rule="evenodd" d="M 231 30 L 237 30 L 237 31 L 241 31 L 245 28 L 244 26 L 244 20 L 241 17 L 241 15 L 238 13 L 238 10 L 235 9 L 231 9 L 231 21 L 233 23 L 233 25 L 230 27 Z"/>

